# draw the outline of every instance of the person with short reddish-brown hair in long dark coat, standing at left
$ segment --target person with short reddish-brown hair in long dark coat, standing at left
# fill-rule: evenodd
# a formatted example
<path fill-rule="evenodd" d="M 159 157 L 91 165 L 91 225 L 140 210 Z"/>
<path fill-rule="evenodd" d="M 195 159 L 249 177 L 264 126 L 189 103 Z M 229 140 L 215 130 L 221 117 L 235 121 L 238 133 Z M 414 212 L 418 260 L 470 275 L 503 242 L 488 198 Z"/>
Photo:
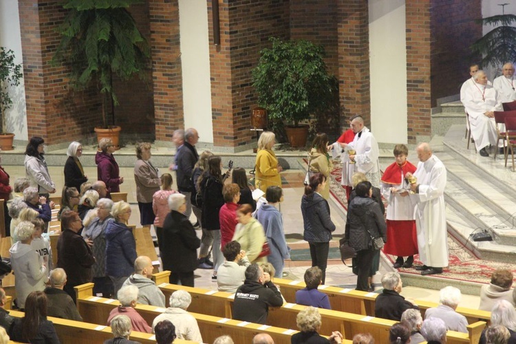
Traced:
<path fill-rule="evenodd" d="M 91 282 L 92 266 L 95 264 L 91 248 L 78 235 L 83 222 L 75 211 L 63 211 L 61 228 L 65 228 L 57 240 L 57 267 L 65 270 L 68 283 L 63 290 L 76 302 L 75 286 Z"/>

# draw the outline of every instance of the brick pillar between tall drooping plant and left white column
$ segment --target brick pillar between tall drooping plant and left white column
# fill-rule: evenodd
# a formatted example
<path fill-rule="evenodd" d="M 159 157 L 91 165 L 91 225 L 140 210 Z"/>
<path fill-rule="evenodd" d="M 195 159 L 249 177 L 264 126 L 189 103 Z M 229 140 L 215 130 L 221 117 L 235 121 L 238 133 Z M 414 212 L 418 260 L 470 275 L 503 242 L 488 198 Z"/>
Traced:
<path fill-rule="evenodd" d="M 149 0 L 156 140 L 184 127 L 178 0 Z"/>

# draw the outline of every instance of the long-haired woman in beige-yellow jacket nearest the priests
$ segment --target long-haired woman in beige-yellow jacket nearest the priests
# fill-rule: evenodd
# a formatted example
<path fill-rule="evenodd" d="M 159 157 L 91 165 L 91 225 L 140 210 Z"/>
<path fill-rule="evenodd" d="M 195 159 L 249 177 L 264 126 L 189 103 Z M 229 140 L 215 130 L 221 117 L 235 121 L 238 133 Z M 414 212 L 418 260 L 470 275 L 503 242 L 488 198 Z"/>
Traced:
<path fill-rule="evenodd" d="M 328 136 L 325 133 L 318 133 L 312 142 L 312 149 L 308 152 L 308 174 L 321 173 L 327 180 L 324 189 L 321 190 L 321 196 L 325 200 L 330 198 L 330 155 L 327 147 Z"/>

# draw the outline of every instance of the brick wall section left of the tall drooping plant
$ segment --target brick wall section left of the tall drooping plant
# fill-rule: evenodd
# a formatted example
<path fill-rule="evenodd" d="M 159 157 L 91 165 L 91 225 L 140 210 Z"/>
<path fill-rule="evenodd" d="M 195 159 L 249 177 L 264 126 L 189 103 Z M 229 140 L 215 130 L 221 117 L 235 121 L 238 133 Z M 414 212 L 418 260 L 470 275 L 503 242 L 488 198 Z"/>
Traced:
<path fill-rule="evenodd" d="M 28 135 L 47 144 L 77 140 L 100 124 L 95 92 L 69 89 L 67 67 L 50 65 L 60 41 L 56 28 L 66 11 L 59 0 L 19 0 Z"/>

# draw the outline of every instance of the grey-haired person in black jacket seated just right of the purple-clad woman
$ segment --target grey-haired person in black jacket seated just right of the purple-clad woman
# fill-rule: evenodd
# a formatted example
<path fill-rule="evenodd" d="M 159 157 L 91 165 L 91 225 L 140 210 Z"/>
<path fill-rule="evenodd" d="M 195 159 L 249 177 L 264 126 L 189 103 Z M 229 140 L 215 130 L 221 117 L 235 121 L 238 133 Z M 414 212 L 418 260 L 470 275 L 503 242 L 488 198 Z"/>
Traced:
<path fill-rule="evenodd" d="M 378 318 L 401 321 L 401 314 L 418 306 L 400 295 L 402 282 L 398 272 L 387 272 L 382 277 L 383 293 L 378 295 L 374 303 L 374 314 Z"/>

